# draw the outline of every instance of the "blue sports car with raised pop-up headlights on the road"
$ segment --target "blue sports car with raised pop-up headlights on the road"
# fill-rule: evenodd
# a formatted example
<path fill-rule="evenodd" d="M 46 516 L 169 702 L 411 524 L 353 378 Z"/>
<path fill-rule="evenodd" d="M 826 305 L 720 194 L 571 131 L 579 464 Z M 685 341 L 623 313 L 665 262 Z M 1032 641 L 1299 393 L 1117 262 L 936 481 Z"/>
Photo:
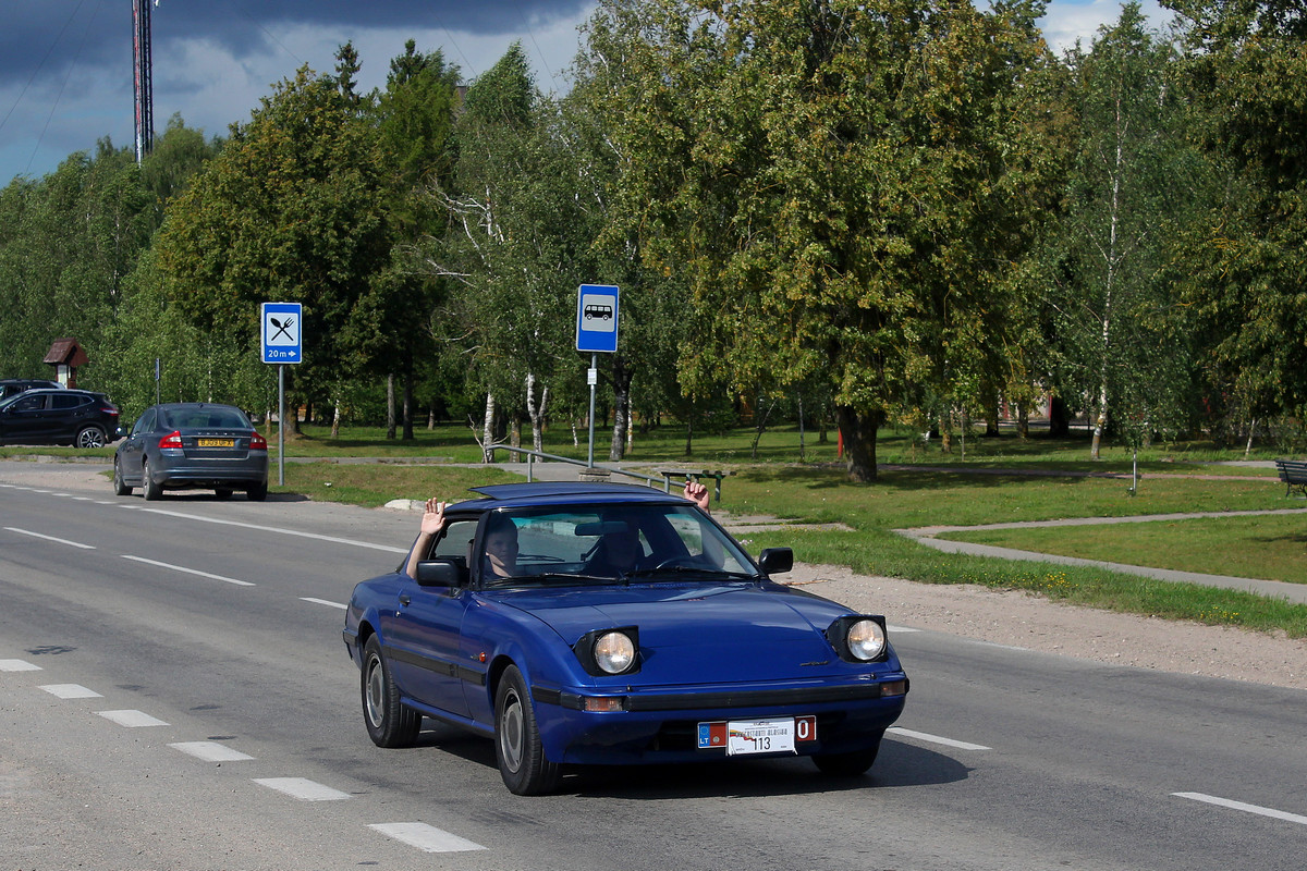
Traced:
<path fill-rule="evenodd" d="M 574 764 L 876 761 L 908 691 L 885 618 L 772 581 L 789 548 L 754 562 L 697 504 L 648 487 L 474 492 L 420 538 L 427 552 L 350 598 L 374 743 L 412 744 L 422 717 L 464 726 L 494 739 L 519 795 Z"/>

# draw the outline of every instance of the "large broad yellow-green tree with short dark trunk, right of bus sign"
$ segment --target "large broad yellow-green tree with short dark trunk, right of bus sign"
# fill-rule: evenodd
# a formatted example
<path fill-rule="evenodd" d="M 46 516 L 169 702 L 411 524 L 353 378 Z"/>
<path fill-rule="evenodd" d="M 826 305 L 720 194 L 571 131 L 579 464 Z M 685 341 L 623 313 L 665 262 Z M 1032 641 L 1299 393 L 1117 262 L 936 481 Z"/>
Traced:
<path fill-rule="evenodd" d="M 997 367 L 1051 180 L 1027 82 L 1038 4 L 606 0 L 580 69 L 625 226 L 685 264 L 703 319 L 682 376 L 746 390 L 822 373 L 855 481 L 923 385 Z M 942 390 L 941 390 L 942 392 Z"/>

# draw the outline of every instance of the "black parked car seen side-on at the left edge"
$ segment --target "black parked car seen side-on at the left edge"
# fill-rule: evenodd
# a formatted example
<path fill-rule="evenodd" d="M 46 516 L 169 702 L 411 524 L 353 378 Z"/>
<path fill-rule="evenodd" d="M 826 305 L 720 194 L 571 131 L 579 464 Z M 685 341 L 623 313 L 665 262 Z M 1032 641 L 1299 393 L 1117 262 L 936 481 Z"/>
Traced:
<path fill-rule="evenodd" d="M 118 406 L 103 393 L 37 388 L 0 400 L 0 444 L 102 448 L 118 439 Z"/>

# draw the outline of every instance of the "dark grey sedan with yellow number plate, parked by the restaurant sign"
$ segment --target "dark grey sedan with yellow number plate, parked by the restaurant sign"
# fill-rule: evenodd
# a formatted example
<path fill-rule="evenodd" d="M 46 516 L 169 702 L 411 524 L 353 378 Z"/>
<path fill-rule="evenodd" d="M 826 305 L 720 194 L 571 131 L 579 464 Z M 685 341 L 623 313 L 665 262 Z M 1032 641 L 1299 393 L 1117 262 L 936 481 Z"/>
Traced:
<path fill-rule="evenodd" d="M 114 452 L 114 492 L 146 499 L 165 490 L 243 490 L 268 498 L 268 441 L 244 411 L 213 402 L 167 402 L 145 410 Z"/>

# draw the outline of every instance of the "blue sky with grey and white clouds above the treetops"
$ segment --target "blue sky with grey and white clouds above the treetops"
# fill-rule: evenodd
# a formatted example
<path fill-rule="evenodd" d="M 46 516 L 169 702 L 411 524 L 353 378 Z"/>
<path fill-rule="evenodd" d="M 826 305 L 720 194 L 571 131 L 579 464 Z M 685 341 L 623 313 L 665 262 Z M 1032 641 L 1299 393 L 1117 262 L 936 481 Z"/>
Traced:
<path fill-rule="evenodd" d="M 307 64 L 332 72 L 353 42 L 359 90 L 386 84 L 413 39 L 472 81 L 521 42 L 544 91 L 566 93 L 593 0 L 152 0 L 154 131 L 174 115 L 207 136 L 250 119 L 273 85 Z M 1154 26 L 1167 16 L 1144 0 Z M 1053 48 L 1087 47 L 1117 0 L 1050 0 Z M 39 179 L 105 137 L 133 145 L 132 0 L 0 0 L 0 185 Z"/>

